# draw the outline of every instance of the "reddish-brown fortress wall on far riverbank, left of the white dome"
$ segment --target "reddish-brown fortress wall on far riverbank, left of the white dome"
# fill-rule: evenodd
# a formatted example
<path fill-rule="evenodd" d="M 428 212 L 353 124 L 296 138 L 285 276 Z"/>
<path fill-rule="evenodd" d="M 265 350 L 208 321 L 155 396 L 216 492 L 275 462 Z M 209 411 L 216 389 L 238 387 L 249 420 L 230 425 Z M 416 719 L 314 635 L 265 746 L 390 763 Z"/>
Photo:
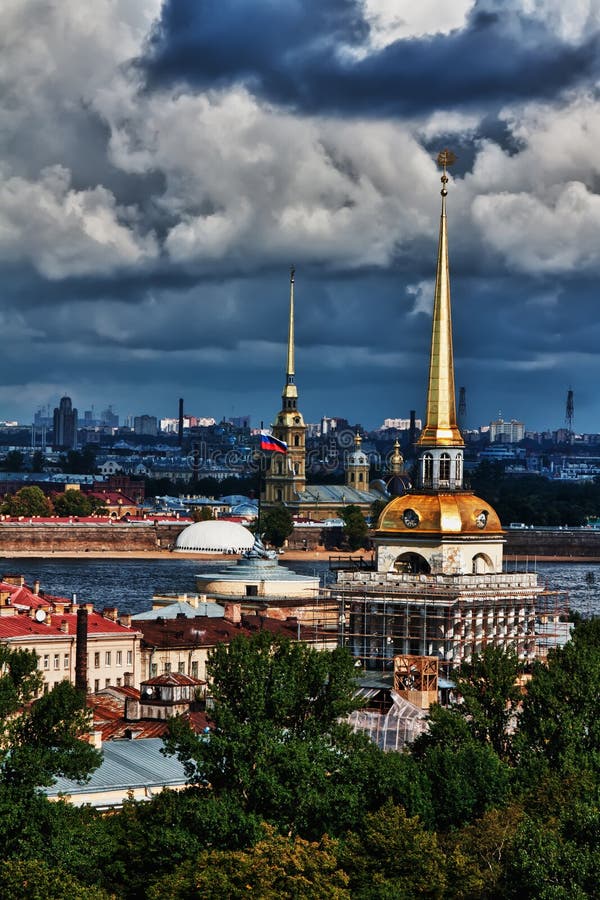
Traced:
<path fill-rule="evenodd" d="M 0 553 L 169 550 L 184 528 L 175 522 L 0 522 Z"/>

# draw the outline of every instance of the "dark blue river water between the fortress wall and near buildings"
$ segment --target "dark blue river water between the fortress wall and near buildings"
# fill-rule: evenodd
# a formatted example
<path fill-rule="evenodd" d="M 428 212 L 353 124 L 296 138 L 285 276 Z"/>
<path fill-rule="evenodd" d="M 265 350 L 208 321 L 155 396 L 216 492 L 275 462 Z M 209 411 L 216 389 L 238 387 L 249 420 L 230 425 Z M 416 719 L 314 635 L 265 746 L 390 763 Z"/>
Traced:
<path fill-rule="evenodd" d="M 3 559 L 0 573 L 24 575 L 29 585 L 37 578 L 42 590 L 90 602 L 98 609 L 117 606 L 120 612 L 137 613 L 150 609 L 153 594 L 194 593 L 195 576 L 222 568 L 222 560 L 193 559 L 48 559 L 19 557 Z M 233 563 L 235 565 L 235 563 Z M 285 565 L 302 575 L 328 578 L 328 564 L 307 560 Z M 524 571 L 523 564 L 517 564 Z M 514 564 L 507 566 L 515 570 Z M 534 571 L 532 565 L 529 571 Z M 600 614 L 600 563 L 544 562 L 535 566 L 542 584 L 550 590 L 565 590 L 570 606 L 584 615 Z M 593 578 L 592 578 L 593 576 Z"/>

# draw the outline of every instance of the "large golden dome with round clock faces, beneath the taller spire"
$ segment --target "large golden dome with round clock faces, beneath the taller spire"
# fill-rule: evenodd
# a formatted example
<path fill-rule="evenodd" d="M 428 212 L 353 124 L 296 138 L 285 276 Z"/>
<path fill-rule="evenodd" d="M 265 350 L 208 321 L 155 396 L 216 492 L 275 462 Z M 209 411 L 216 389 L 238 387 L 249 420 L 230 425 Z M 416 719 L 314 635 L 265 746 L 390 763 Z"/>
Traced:
<path fill-rule="evenodd" d="M 498 513 L 469 491 L 403 494 L 394 497 L 379 517 L 376 533 L 503 534 Z"/>

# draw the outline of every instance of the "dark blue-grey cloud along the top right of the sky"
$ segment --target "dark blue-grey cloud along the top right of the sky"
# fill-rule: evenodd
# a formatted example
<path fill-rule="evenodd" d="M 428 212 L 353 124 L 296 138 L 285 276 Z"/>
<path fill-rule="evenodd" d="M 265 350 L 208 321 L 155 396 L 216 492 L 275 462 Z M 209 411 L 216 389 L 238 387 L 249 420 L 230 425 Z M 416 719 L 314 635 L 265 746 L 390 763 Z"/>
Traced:
<path fill-rule="evenodd" d="M 598 40 L 576 46 L 541 20 L 474 7 L 464 29 L 397 40 L 359 57 L 358 0 L 296 4 L 167 0 L 142 65 L 154 86 L 247 84 L 305 112 L 416 115 L 554 96 L 598 71 Z"/>

